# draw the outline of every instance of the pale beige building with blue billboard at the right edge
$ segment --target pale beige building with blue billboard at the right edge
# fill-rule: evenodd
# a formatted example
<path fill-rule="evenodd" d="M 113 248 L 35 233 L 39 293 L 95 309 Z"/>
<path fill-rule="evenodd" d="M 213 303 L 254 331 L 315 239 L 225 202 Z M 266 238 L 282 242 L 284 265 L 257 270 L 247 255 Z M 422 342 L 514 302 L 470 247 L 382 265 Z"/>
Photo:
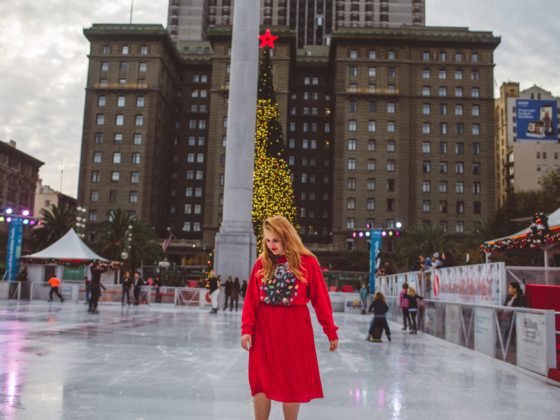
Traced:
<path fill-rule="evenodd" d="M 517 109 L 520 105 L 529 112 L 534 111 L 532 118 L 535 118 L 536 128 L 529 134 L 525 126 L 525 132 L 520 129 Z M 500 86 L 500 97 L 495 105 L 498 206 L 506 202 L 508 192 L 538 190 L 540 178 L 560 168 L 558 107 L 560 98 L 539 86 L 522 91 L 516 82 Z M 556 121 L 550 135 L 538 132 L 540 121 L 537 120 L 544 116 L 546 109 L 556 113 L 550 115 L 551 121 Z"/>

